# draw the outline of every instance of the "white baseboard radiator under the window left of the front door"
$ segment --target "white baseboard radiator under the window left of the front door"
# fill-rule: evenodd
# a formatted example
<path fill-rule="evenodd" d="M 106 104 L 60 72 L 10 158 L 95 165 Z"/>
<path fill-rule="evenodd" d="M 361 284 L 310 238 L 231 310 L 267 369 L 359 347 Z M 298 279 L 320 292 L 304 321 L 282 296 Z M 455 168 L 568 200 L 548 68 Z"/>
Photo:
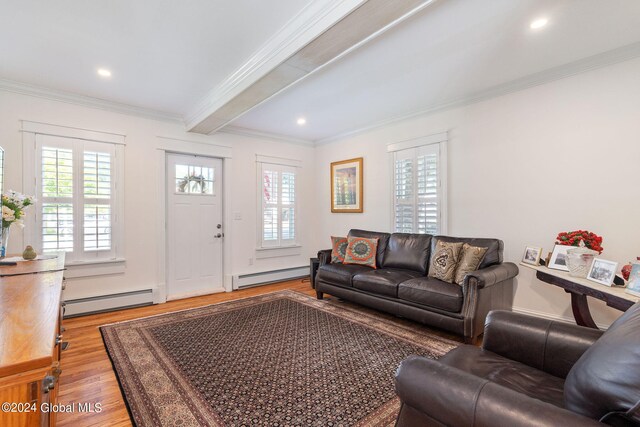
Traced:
<path fill-rule="evenodd" d="M 64 317 L 85 316 L 153 304 L 153 289 L 65 301 Z"/>

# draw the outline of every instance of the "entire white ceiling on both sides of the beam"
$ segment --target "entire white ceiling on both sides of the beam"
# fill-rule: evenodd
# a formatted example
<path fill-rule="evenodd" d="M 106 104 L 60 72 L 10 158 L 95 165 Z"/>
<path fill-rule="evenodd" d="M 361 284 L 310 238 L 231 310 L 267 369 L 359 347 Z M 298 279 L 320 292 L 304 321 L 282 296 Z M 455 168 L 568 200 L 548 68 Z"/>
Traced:
<path fill-rule="evenodd" d="M 0 0 L 0 79 L 184 117 L 310 3 Z M 322 140 L 634 43 L 638 0 L 438 0 L 232 125 Z"/>

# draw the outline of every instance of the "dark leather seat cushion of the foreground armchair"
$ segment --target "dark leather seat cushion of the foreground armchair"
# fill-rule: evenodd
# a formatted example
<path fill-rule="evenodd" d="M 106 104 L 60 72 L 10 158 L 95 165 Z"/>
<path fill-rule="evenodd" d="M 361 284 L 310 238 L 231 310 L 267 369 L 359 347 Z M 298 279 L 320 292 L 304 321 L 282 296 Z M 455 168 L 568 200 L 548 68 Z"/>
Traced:
<path fill-rule="evenodd" d="M 564 380 L 544 371 L 471 345 L 457 347 L 438 360 L 515 392 L 564 408 Z"/>

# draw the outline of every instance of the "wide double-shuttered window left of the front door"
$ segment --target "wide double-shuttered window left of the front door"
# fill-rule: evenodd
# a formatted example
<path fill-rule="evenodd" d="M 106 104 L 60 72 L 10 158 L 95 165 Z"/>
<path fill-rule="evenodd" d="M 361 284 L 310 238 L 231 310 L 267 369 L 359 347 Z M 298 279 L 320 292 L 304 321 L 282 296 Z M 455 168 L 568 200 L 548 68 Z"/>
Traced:
<path fill-rule="evenodd" d="M 36 228 L 43 253 L 67 260 L 115 259 L 121 235 L 111 143 L 36 135 Z"/>

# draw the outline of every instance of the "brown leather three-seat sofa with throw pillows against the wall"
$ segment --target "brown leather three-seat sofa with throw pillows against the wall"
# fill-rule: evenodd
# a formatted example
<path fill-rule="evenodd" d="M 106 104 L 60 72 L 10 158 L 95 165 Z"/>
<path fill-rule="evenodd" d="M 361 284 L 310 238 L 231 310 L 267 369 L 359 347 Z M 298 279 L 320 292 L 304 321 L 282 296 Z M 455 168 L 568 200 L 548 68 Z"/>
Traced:
<path fill-rule="evenodd" d="M 349 236 L 378 239 L 378 268 L 332 264 L 330 249 L 318 252 L 318 299 L 326 292 L 462 335 L 467 342 L 482 334 L 490 310 L 511 309 L 518 267 L 502 262 L 501 240 L 365 230 L 351 230 Z M 438 240 L 488 248 L 479 270 L 467 274 L 462 286 L 427 276 Z"/>

